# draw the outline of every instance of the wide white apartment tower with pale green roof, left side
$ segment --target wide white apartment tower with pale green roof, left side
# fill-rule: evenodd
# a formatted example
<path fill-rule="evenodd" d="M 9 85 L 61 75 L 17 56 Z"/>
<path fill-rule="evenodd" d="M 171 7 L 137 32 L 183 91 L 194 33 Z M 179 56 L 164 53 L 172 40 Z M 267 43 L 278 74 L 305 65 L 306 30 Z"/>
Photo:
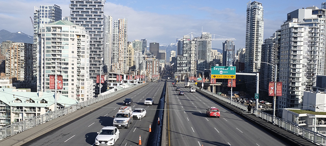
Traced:
<path fill-rule="evenodd" d="M 90 79 L 90 37 L 84 27 L 71 21 L 56 21 L 45 25 L 38 35 L 42 43 L 41 91 L 86 101 L 93 98 L 93 81 Z M 55 88 L 55 76 L 58 76 Z M 62 79 L 60 79 L 62 78 Z M 59 86 L 62 85 L 62 86 Z"/>

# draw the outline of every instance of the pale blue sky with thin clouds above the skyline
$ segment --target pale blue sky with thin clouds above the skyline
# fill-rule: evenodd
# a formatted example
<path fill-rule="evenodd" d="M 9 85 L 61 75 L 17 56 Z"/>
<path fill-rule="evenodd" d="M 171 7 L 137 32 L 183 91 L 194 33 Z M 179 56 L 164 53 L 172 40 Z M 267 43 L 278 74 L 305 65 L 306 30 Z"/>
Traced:
<path fill-rule="evenodd" d="M 248 0 L 249 1 L 249 0 Z M 104 14 L 113 20 L 127 18 L 128 41 L 147 39 L 160 45 L 201 32 L 215 38 L 235 38 L 235 49 L 245 47 L 247 0 L 106 0 Z M 326 0 L 257 0 L 264 7 L 264 39 L 269 38 L 296 9 L 317 6 Z M 62 17 L 70 15 L 70 0 L 0 0 L 0 30 L 33 36 L 34 6 L 58 5 Z M 223 41 L 213 41 L 222 48 Z"/>

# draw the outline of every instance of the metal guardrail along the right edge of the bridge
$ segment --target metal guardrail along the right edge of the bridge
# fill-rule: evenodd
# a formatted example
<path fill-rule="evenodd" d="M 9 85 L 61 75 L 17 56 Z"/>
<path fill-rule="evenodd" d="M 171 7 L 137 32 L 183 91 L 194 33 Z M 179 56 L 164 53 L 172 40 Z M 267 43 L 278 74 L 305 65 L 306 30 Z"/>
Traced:
<path fill-rule="evenodd" d="M 222 100 L 226 103 L 229 103 L 241 110 L 244 110 L 246 111 L 247 110 L 247 106 L 244 105 L 244 104 L 241 104 L 241 103 L 238 103 L 238 102 L 235 102 L 235 101 L 232 101 L 230 103 L 230 98 L 227 98 L 227 97 L 224 97 L 224 96 L 221 96 L 221 95 L 218 95 L 216 93 L 213 93 L 213 92 L 210 92 L 210 91 L 207 91 L 207 90 L 203 90 L 203 89 L 199 89 L 199 87 L 197 86 L 192 86 L 194 88 L 196 88 L 196 90 L 200 90 L 200 91 L 203 91 L 209 95 L 212 95 L 214 97 L 216 97 L 217 99 L 219 100 Z M 322 145 L 322 146 L 326 146 L 326 136 L 325 135 L 322 135 L 321 133 L 318 133 L 318 132 L 314 132 L 312 130 L 309 130 L 307 128 L 303 128 L 303 127 L 300 127 L 300 126 L 297 126 L 297 125 L 294 125 L 290 122 L 287 122 L 287 121 L 284 121 L 283 119 L 280 119 L 278 117 L 273 117 L 271 114 L 268 114 L 268 113 L 265 113 L 265 112 L 262 112 L 261 110 L 255 110 L 253 109 L 253 113 L 259 117 L 259 118 L 262 118 L 268 122 L 270 122 L 271 124 L 274 124 L 274 125 L 277 125 L 278 127 L 280 128 L 283 128 L 287 131 L 291 131 L 293 132 L 293 134 L 296 134 L 304 139 L 307 139 L 308 141 L 311 141 L 312 143 L 314 144 L 317 144 L 317 145 Z"/>

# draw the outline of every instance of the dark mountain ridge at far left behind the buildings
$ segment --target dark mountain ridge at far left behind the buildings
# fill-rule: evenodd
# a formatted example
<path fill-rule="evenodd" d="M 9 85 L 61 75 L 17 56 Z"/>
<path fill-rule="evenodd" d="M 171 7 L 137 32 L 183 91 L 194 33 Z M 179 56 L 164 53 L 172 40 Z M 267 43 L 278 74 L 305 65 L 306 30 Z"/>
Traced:
<path fill-rule="evenodd" d="M 33 44 L 33 36 L 26 35 L 22 32 L 11 33 L 4 29 L 0 30 L 0 42 L 7 40 Z"/>

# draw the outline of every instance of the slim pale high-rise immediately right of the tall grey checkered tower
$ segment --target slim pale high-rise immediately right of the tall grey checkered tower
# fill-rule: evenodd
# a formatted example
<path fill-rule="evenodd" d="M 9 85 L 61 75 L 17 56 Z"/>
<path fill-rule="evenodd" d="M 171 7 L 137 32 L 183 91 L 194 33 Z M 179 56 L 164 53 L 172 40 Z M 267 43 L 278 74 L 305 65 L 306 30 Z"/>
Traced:
<path fill-rule="evenodd" d="M 112 17 L 104 15 L 103 24 L 103 63 L 107 69 L 110 69 L 112 64 Z"/>

